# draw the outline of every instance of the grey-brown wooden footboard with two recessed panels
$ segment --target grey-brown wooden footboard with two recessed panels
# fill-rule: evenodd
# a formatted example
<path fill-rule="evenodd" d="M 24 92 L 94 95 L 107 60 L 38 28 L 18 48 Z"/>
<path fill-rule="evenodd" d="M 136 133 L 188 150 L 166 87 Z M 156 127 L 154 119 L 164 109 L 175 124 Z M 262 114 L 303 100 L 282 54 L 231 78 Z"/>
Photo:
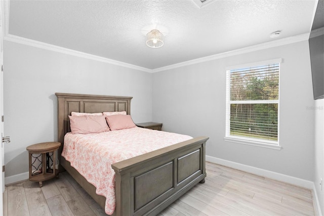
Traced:
<path fill-rule="evenodd" d="M 112 164 L 115 170 L 116 215 L 154 215 L 206 177 L 208 137 Z"/>

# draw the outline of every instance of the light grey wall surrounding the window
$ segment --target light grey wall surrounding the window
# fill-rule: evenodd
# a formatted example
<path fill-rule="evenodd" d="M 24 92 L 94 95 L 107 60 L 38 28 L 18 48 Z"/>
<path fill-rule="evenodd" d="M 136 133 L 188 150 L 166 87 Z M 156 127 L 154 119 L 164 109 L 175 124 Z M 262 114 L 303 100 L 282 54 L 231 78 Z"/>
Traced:
<path fill-rule="evenodd" d="M 282 150 L 224 141 L 226 67 L 282 58 Z M 308 41 L 224 57 L 153 74 L 153 121 L 163 129 L 206 135 L 208 156 L 313 181 L 314 112 Z"/>

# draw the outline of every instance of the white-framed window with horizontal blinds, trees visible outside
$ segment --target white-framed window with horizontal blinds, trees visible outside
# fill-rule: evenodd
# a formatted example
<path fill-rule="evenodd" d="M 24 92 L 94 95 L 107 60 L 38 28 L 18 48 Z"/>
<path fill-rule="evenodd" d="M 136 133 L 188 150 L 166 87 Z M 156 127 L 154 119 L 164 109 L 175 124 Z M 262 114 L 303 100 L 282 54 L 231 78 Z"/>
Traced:
<path fill-rule="evenodd" d="M 278 105 L 281 59 L 270 62 L 226 70 L 225 140 L 280 149 Z"/>

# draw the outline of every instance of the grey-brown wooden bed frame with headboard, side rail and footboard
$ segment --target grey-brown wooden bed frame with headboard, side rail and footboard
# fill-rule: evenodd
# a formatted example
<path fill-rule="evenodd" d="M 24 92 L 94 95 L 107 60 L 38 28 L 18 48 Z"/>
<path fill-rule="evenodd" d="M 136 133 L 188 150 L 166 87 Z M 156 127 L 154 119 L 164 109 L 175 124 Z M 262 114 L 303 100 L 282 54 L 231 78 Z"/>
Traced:
<path fill-rule="evenodd" d="M 132 97 L 55 93 L 58 97 L 60 165 L 104 209 L 106 198 L 60 156 L 64 135 L 70 131 L 71 112 L 131 113 Z M 155 215 L 197 183 L 204 183 L 205 146 L 209 137 L 197 137 L 112 164 L 115 170 L 116 208 L 113 215 Z M 60 166 L 60 170 L 64 170 Z"/>

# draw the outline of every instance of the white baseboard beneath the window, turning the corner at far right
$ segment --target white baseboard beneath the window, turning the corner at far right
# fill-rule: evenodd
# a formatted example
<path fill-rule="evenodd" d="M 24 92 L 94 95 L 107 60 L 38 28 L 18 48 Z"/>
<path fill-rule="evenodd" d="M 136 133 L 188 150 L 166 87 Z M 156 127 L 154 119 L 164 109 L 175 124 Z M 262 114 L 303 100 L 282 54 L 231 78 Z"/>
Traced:
<path fill-rule="evenodd" d="M 317 211 L 316 215 L 322 215 L 320 207 L 319 207 L 319 201 L 318 201 L 318 197 L 317 197 L 317 193 L 316 193 L 315 184 L 311 181 L 308 181 L 308 180 L 305 180 L 302 178 L 293 177 L 290 175 L 281 174 L 278 172 L 269 171 L 266 169 L 260 169 L 260 168 L 254 167 L 254 166 L 248 166 L 245 164 L 240 164 L 240 163 L 236 163 L 236 162 L 232 162 L 232 161 L 228 161 L 228 160 L 224 160 L 224 159 L 220 159 L 220 158 L 215 158 L 215 157 L 208 156 L 208 155 L 206 155 L 206 161 L 211 162 L 211 163 L 217 163 L 217 164 L 231 167 L 234 169 L 239 169 L 241 171 L 249 172 L 249 173 L 260 175 L 263 177 L 271 178 L 271 179 L 274 179 L 274 180 L 277 180 L 280 182 L 285 182 L 285 183 L 288 183 L 291 185 L 296 185 L 299 187 L 310 189 L 310 190 L 312 190 L 314 209 Z M 207 176 L 208 176 L 208 173 L 207 173 Z"/>

